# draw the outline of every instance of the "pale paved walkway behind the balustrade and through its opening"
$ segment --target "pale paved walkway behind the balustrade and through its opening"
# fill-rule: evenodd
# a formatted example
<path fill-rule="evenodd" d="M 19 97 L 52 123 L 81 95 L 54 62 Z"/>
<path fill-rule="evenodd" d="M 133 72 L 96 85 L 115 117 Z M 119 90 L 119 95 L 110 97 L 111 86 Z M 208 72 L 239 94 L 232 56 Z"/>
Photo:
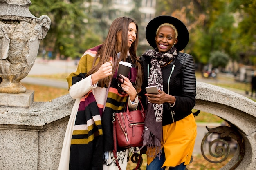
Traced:
<path fill-rule="evenodd" d="M 69 75 L 72 71 L 76 70 L 76 64 L 74 60 L 71 61 L 65 61 L 65 60 L 49 60 L 44 61 L 40 58 L 36 59 L 36 62 L 34 66 L 32 67 L 31 71 L 29 72 L 28 76 L 21 80 L 21 83 L 29 83 L 29 84 L 42 84 L 45 86 L 54 86 L 58 88 L 67 88 L 67 82 L 65 80 L 52 80 L 52 79 L 43 79 L 43 78 L 36 78 L 35 75 L 47 75 L 47 74 L 57 74 L 57 73 L 65 73 Z M 29 75 L 33 75 L 33 77 L 29 77 Z M 197 77 L 197 81 L 200 82 L 206 82 L 206 83 L 212 83 L 216 81 L 229 81 L 222 78 L 222 80 L 218 79 L 202 79 Z M 229 90 L 234 91 L 236 93 L 239 93 L 241 95 L 244 95 L 246 97 L 249 97 L 249 95 L 245 94 L 245 91 L 240 91 L 237 89 L 231 89 Z M 201 142 L 204 137 L 204 135 L 207 133 L 207 129 L 205 126 L 208 126 L 210 128 L 220 126 L 218 123 L 198 123 L 198 135 L 195 142 L 195 148 L 193 153 L 201 153 Z"/>

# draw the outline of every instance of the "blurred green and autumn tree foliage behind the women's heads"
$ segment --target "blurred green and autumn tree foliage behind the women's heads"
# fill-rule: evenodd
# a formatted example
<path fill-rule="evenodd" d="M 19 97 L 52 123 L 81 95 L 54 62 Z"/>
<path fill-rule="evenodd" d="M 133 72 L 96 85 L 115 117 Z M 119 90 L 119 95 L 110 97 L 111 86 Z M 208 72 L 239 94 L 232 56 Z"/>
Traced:
<path fill-rule="evenodd" d="M 88 48 L 101 44 L 110 21 L 119 15 L 137 20 L 139 41 L 145 37 L 145 20 L 142 20 L 141 0 L 133 0 L 134 9 L 129 13 L 113 9 L 111 0 L 31 0 L 31 13 L 37 17 L 48 15 L 51 28 L 40 47 L 65 57 L 78 57 Z M 85 5 L 86 4 L 86 5 Z M 184 52 L 191 53 L 195 62 L 208 64 L 212 51 L 224 51 L 232 60 L 241 53 L 245 60 L 255 63 L 256 1 L 255 0 L 158 0 L 157 15 L 172 15 L 184 22 L 190 33 Z M 150 48 L 138 47 L 139 55 Z M 40 51 L 39 51 L 40 52 Z"/>

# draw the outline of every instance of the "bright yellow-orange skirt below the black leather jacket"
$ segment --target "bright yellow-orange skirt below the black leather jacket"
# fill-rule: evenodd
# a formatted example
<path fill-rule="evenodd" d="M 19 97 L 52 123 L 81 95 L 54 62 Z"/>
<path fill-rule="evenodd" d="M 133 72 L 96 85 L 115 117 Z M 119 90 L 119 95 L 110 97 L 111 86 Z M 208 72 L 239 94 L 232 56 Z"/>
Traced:
<path fill-rule="evenodd" d="M 185 165 L 189 164 L 197 135 L 196 128 L 192 113 L 182 120 L 163 126 L 161 141 L 165 153 L 163 167 L 175 167 L 183 162 Z M 149 165 L 153 159 L 147 155 L 147 164 Z"/>

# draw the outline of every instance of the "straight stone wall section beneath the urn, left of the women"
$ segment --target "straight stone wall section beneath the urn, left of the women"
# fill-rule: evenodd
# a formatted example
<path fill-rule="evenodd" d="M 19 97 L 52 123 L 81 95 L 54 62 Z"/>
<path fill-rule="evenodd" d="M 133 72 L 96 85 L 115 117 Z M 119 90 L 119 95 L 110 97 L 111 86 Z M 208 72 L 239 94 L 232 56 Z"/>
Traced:
<path fill-rule="evenodd" d="M 0 107 L 0 169 L 57 170 L 73 104 L 65 95 L 30 108 Z"/>

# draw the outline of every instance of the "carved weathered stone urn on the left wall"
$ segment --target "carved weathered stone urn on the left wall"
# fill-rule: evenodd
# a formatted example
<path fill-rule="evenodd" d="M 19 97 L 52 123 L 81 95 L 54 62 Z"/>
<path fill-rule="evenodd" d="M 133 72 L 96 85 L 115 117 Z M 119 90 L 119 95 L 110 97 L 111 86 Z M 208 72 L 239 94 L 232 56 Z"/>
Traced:
<path fill-rule="evenodd" d="M 36 18 L 30 0 L 0 0 L 0 93 L 25 93 L 20 80 L 31 70 L 51 20 Z"/>

